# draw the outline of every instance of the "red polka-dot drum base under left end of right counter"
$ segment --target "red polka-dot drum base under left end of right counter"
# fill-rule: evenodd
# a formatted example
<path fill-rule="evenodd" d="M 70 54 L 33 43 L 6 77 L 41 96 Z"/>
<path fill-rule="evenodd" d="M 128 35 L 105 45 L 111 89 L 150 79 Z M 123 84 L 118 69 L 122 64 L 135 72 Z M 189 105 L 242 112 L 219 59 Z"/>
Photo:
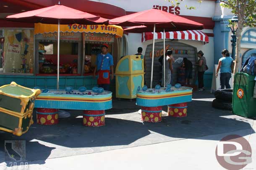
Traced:
<path fill-rule="evenodd" d="M 143 122 L 161 122 L 162 107 L 141 107 L 141 121 Z"/>

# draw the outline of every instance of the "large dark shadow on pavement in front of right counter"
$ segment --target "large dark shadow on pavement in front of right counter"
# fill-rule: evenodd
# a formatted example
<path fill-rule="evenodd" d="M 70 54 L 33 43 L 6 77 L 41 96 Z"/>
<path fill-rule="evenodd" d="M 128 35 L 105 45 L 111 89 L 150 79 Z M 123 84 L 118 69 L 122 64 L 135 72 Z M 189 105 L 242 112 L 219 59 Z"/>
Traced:
<path fill-rule="evenodd" d="M 147 123 L 145 126 L 153 132 L 168 137 L 194 138 L 250 129 L 252 121 L 235 116 L 229 111 L 214 109 L 211 101 L 193 101 L 188 104 L 187 117 L 163 117 L 162 122 L 156 125 Z"/>

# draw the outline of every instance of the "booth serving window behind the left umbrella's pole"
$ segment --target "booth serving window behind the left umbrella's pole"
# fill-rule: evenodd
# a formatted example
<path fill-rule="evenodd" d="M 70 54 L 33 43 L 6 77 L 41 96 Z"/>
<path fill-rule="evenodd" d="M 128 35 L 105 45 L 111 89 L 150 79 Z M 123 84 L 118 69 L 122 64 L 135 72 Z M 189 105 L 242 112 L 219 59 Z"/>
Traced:
<path fill-rule="evenodd" d="M 57 74 L 57 34 L 37 34 L 36 39 L 37 73 Z M 81 43 L 81 33 L 60 34 L 60 74 L 81 74 Z"/>

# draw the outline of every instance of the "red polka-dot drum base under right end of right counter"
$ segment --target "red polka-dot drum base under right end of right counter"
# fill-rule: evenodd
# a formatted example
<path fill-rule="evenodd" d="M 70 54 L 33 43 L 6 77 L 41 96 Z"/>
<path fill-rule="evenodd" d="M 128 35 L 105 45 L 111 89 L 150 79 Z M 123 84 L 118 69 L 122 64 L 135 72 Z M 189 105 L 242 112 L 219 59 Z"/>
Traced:
<path fill-rule="evenodd" d="M 188 105 L 187 103 L 179 103 L 168 105 L 168 116 L 171 117 L 186 117 Z"/>

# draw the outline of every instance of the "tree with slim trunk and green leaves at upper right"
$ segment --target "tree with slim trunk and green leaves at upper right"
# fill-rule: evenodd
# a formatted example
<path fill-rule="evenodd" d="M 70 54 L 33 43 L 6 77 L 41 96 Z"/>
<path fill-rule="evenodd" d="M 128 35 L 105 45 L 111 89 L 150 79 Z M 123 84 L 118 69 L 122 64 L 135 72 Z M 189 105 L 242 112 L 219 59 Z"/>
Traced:
<path fill-rule="evenodd" d="M 185 0 L 168 0 L 173 6 L 179 6 L 181 2 Z M 242 39 L 243 27 L 255 27 L 256 26 L 256 0 L 219 0 L 221 5 L 225 8 L 232 10 L 232 13 L 238 16 L 238 29 L 236 31 L 237 44 L 236 44 L 236 54 L 235 54 L 235 71 L 238 72 L 239 66 L 242 65 L 242 60 L 240 58 L 240 42 Z M 203 3 L 203 0 L 198 0 L 198 3 Z M 196 9 L 191 6 L 187 9 Z"/>

